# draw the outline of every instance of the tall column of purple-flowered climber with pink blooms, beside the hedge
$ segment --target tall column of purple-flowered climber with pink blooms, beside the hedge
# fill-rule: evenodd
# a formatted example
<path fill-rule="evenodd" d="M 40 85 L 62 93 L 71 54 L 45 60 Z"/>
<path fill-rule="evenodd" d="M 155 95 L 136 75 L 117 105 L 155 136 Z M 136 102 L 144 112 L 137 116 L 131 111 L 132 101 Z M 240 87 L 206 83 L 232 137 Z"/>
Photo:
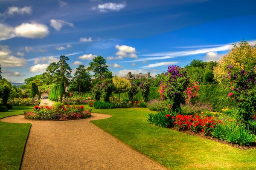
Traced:
<path fill-rule="evenodd" d="M 183 92 L 188 87 L 189 78 L 184 68 L 177 65 L 168 66 L 166 77 L 160 83 L 161 99 L 166 99 L 169 107 L 173 110 L 180 110 L 180 103 L 185 103 Z"/>

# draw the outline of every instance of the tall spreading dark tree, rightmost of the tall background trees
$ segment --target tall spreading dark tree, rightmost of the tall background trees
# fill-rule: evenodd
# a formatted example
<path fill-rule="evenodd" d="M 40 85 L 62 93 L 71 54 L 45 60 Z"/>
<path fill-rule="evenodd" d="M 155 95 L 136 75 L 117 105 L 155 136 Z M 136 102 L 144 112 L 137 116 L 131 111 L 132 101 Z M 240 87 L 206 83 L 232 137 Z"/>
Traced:
<path fill-rule="evenodd" d="M 104 59 L 102 56 L 97 56 L 93 59 L 93 62 L 89 63 L 89 67 L 87 70 L 93 71 L 96 79 L 102 80 L 104 77 L 104 73 L 108 72 L 108 65 L 106 62 L 106 59 Z"/>

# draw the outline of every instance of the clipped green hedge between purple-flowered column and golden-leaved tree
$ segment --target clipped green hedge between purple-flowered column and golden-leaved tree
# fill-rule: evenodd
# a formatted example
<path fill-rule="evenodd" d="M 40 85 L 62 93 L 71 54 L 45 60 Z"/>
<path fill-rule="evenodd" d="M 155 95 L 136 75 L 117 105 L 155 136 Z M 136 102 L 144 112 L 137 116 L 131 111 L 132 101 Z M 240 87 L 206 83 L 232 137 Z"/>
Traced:
<path fill-rule="evenodd" d="M 220 85 L 200 85 L 198 101 L 212 105 L 213 111 L 223 108 L 235 108 L 236 102 L 227 98 L 227 91 Z"/>

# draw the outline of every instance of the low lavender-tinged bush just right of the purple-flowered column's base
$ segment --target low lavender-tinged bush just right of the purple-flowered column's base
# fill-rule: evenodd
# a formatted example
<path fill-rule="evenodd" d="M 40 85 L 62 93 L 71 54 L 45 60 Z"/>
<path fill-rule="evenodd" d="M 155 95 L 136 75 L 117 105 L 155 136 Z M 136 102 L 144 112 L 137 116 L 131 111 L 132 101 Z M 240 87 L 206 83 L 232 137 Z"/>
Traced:
<path fill-rule="evenodd" d="M 212 111 L 212 107 L 209 104 L 204 103 L 188 103 L 186 105 L 181 104 L 181 112 L 184 115 L 192 115 L 195 113 L 209 112 Z"/>

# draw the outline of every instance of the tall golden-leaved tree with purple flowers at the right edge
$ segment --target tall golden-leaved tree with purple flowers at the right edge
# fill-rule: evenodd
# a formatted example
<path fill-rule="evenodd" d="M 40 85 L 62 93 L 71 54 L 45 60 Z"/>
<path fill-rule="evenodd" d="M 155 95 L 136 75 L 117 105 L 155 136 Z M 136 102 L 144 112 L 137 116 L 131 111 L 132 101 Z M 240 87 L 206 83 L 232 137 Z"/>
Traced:
<path fill-rule="evenodd" d="M 247 121 L 256 111 L 256 46 L 241 41 L 218 62 L 215 79 L 228 90 L 227 97 L 236 100 L 239 115 Z"/>

